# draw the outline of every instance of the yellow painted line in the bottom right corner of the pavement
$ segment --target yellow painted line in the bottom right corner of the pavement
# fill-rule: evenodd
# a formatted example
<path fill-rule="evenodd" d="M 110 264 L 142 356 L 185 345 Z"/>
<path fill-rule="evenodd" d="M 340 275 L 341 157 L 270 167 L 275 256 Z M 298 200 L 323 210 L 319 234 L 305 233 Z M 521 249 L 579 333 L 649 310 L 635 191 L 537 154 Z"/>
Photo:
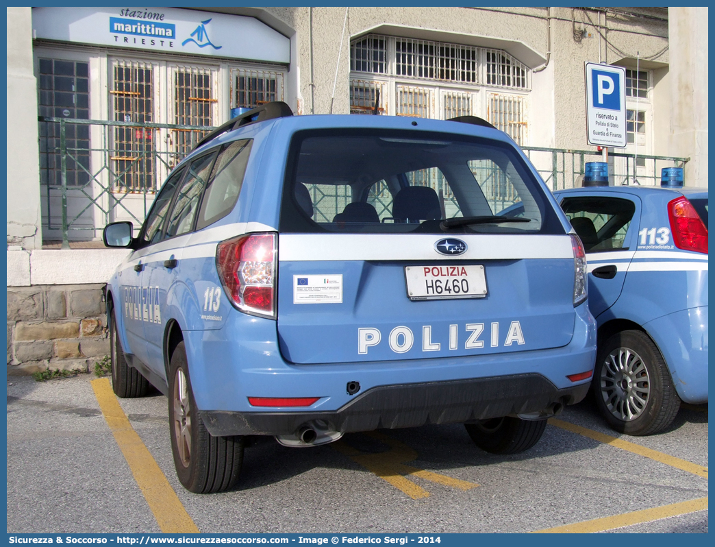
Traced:
<path fill-rule="evenodd" d="M 594 533 L 633 526 L 634 524 L 659 521 L 662 518 L 676 517 L 696 513 L 708 508 L 708 498 L 698 498 L 696 500 L 681 501 L 671 505 L 662 505 L 652 509 L 623 513 L 612 517 L 594 518 L 593 521 L 583 521 L 581 523 L 566 524 L 566 526 L 556 526 L 556 528 L 546 528 L 532 533 Z"/>

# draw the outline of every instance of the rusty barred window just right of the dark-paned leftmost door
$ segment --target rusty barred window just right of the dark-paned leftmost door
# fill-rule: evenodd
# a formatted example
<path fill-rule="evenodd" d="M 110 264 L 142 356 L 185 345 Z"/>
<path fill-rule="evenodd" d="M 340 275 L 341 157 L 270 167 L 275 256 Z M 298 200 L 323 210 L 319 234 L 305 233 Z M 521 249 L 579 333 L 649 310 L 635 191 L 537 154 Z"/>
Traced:
<path fill-rule="evenodd" d="M 115 60 L 112 66 L 112 110 L 119 122 L 154 122 L 154 69 L 151 64 Z M 110 160 L 117 192 L 152 192 L 157 188 L 154 130 L 114 127 Z"/>

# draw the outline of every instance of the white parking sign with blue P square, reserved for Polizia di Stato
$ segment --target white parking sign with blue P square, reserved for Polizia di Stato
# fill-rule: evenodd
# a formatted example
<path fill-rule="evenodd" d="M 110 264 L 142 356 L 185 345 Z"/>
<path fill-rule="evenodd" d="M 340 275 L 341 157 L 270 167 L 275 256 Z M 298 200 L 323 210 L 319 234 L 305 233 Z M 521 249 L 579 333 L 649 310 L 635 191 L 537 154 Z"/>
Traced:
<path fill-rule="evenodd" d="M 626 147 L 626 69 L 586 63 L 586 140 Z"/>

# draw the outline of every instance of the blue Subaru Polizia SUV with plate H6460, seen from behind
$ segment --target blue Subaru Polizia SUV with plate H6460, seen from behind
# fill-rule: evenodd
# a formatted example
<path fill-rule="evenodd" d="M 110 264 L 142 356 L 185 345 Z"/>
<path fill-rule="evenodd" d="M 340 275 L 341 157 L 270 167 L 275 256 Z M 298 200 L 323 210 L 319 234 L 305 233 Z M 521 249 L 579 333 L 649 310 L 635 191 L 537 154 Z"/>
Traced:
<path fill-rule="evenodd" d="M 114 392 L 167 394 L 192 492 L 232 488 L 254 435 L 464 423 L 520 452 L 593 373 L 581 241 L 476 117 L 263 105 L 174 168 L 137 237 L 104 242 L 132 249 L 107 285 Z"/>

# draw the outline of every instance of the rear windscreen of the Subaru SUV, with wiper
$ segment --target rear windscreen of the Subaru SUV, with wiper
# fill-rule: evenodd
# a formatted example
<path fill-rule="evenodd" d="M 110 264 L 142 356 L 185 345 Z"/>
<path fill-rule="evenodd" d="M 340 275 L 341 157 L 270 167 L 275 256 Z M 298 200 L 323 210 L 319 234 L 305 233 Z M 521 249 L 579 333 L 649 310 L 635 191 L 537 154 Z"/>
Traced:
<path fill-rule="evenodd" d="M 515 204 L 523 216 L 502 216 Z M 510 145 L 445 133 L 299 132 L 280 231 L 563 233 Z"/>

